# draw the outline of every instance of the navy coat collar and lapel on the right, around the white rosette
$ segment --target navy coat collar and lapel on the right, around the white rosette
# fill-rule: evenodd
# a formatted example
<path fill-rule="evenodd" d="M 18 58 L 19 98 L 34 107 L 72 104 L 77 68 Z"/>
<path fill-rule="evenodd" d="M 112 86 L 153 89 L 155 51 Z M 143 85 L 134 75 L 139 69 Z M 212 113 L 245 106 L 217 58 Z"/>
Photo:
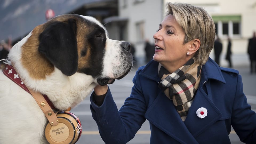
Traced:
<path fill-rule="evenodd" d="M 206 71 L 207 69 L 210 71 Z M 219 66 L 211 58 L 209 58 L 209 61 L 202 67 L 199 88 L 184 122 L 187 129 L 194 137 L 197 137 L 222 117 L 221 111 L 219 111 L 211 101 L 214 95 L 211 93 L 211 85 L 208 82 L 209 79 L 225 83 Z M 203 86 L 206 87 L 207 94 L 203 90 Z M 197 117 L 196 114 L 197 109 L 200 107 L 206 108 L 208 113 L 207 116 L 202 119 Z"/>

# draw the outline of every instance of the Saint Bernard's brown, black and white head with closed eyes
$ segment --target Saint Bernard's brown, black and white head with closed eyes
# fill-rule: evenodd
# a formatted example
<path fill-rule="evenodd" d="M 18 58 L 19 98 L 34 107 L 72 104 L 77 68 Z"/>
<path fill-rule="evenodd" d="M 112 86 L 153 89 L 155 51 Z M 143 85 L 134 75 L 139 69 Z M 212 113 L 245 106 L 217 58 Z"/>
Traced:
<path fill-rule="evenodd" d="M 66 14 L 35 27 L 22 45 L 21 61 L 36 79 L 44 79 L 56 67 L 64 75 L 84 73 L 106 85 L 130 71 L 130 50 L 130 43 L 110 39 L 95 18 Z"/>

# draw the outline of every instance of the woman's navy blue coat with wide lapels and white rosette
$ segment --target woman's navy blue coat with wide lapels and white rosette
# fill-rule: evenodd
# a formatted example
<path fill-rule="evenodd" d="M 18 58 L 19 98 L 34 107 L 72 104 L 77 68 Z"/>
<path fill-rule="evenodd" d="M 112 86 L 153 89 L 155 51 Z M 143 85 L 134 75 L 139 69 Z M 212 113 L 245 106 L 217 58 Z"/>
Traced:
<path fill-rule="evenodd" d="M 256 114 L 247 104 L 241 75 L 237 70 L 219 67 L 212 59 L 202 66 L 195 99 L 183 122 L 173 102 L 158 88 L 158 62 L 140 67 L 134 86 L 118 111 L 110 90 L 102 106 L 93 103 L 91 112 L 105 143 L 127 143 L 147 119 L 150 143 L 227 144 L 231 125 L 241 141 L 256 143 Z M 205 107 L 208 115 L 200 119 L 196 111 Z"/>

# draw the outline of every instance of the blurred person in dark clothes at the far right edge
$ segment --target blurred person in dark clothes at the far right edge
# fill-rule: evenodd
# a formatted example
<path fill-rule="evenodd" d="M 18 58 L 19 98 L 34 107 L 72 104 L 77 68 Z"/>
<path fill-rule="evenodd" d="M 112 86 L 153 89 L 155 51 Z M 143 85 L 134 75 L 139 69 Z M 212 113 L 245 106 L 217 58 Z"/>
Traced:
<path fill-rule="evenodd" d="M 253 73 L 253 67 L 256 72 L 256 32 L 253 32 L 253 37 L 249 39 L 247 53 L 250 58 L 250 72 Z"/>

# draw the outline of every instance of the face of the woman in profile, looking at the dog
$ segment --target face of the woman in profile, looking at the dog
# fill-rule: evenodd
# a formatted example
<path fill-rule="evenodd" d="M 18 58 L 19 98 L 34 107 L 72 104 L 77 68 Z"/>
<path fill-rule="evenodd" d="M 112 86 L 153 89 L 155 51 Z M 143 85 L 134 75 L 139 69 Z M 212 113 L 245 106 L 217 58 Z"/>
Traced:
<path fill-rule="evenodd" d="M 155 39 L 153 59 L 165 68 L 171 66 L 177 70 L 189 60 L 186 55 L 188 43 L 183 44 L 185 33 L 174 20 L 173 15 L 169 14 L 165 17 L 153 37 Z"/>

